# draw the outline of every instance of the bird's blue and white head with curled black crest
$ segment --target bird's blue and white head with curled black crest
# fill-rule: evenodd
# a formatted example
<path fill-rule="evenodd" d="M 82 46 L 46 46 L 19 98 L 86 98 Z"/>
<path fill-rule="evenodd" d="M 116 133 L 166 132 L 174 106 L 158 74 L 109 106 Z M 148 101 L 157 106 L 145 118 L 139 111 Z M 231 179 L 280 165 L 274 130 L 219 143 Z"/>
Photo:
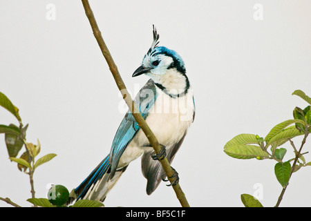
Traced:
<path fill-rule="evenodd" d="M 132 77 L 145 74 L 154 81 L 159 81 L 171 69 L 177 70 L 178 73 L 185 75 L 186 69 L 180 55 L 174 50 L 170 50 L 164 46 L 158 46 L 158 39 L 159 35 L 153 26 L 153 43 L 151 48 L 144 55 L 142 65 L 135 70 Z"/>

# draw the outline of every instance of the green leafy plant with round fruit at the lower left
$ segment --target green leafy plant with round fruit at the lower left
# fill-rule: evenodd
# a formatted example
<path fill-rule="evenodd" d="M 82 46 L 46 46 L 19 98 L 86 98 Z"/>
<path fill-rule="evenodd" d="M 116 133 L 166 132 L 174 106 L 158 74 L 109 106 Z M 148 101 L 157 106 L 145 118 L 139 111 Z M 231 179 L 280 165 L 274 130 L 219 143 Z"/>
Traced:
<path fill-rule="evenodd" d="M 10 124 L 8 126 L 0 124 L 0 133 L 4 133 L 5 135 L 6 147 L 8 149 L 8 155 L 10 160 L 17 163 L 19 171 L 27 173 L 30 177 L 32 198 L 28 199 L 27 201 L 32 203 L 36 207 L 66 207 L 66 202 L 68 202 L 68 198 L 70 195 L 68 189 L 66 189 L 66 187 L 62 185 L 53 185 L 54 189 L 52 187 L 48 192 L 48 199 L 35 198 L 33 174 L 35 173 L 35 170 L 38 168 L 38 166 L 49 162 L 56 156 L 56 154 L 48 153 L 42 157 L 39 157 L 39 159 L 36 160 L 36 157 L 41 152 L 41 144 L 39 140 L 37 140 L 37 145 L 26 142 L 26 130 L 28 128 L 28 124 L 23 127 L 23 124 L 21 123 L 21 117 L 19 116 L 19 109 L 14 104 L 12 104 L 12 102 L 10 101 L 10 99 L 8 99 L 8 97 L 6 97 L 6 95 L 1 92 L 0 106 L 10 111 L 10 113 L 12 113 L 12 115 L 14 115 L 19 121 L 19 126 L 16 126 L 15 124 Z M 17 157 L 19 151 L 21 151 L 21 148 L 23 146 L 25 146 L 25 152 L 23 152 L 20 157 Z M 50 196 L 52 198 L 49 198 Z M 0 198 L 0 200 L 5 200 L 9 204 L 12 204 L 12 206 L 19 206 L 7 199 L 8 198 Z M 77 202 L 75 202 L 75 204 L 72 205 L 72 207 L 101 206 L 104 206 L 104 204 L 94 200 L 78 200 Z"/>

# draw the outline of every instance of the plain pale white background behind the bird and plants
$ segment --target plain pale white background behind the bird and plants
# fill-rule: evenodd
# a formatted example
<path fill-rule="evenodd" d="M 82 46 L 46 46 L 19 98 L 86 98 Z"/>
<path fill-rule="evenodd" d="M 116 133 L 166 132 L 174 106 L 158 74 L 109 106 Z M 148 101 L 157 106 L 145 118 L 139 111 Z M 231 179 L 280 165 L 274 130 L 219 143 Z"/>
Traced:
<path fill-rule="evenodd" d="M 55 6 L 48 20 L 46 6 Z M 90 1 L 113 59 L 133 92 L 132 78 L 152 42 L 184 59 L 194 88 L 196 119 L 172 166 L 191 206 L 243 206 L 241 193 L 262 193 L 274 206 L 281 185 L 272 160 L 236 160 L 223 152 L 235 135 L 265 137 L 292 118 L 311 96 L 311 1 Z M 254 19 L 256 3 L 263 20 Z M 35 172 L 37 198 L 48 183 L 75 188 L 105 157 L 124 113 L 124 102 L 95 41 L 81 1 L 0 1 L 0 91 L 28 124 L 27 141 L 41 156 L 56 153 Z M 0 124 L 18 124 L 0 108 Z M 310 137 L 311 139 L 311 137 Z M 303 152 L 310 151 L 311 141 Z M 301 137 L 294 140 L 300 145 Z M 285 144 L 293 157 L 292 148 Z M 24 149 L 23 149 L 24 150 Z M 21 153 L 23 152 L 21 151 Z M 305 155 L 311 160 L 310 153 Z M 281 206 L 311 206 L 311 167 L 294 173 Z M 28 175 L 8 160 L 0 135 L 0 196 L 31 206 Z M 180 206 L 161 183 L 148 196 L 140 160 L 132 162 L 106 198 L 106 206 Z M 255 188 L 254 188 L 255 185 Z M 256 186 L 260 186 L 256 189 Z M 0 201 L 0 206 L 10 206 Z"/>

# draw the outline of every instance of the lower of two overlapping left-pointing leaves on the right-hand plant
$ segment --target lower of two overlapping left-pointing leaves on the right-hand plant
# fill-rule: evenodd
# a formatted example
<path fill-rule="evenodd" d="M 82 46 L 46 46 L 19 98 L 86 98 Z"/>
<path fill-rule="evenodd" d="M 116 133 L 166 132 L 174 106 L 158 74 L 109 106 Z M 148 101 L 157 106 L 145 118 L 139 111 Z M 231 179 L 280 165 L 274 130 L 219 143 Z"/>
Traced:
<path fill-rule="evenodd" d="M 252 159 L 256 157 L 263 160 L 269 157 L 269 155 L 265 153 L 260 146 L 255 145 L 236 144 L 235 146 L 229 146 L 225 148 L 224 151 L 230 157 L 238 159 Z"/>

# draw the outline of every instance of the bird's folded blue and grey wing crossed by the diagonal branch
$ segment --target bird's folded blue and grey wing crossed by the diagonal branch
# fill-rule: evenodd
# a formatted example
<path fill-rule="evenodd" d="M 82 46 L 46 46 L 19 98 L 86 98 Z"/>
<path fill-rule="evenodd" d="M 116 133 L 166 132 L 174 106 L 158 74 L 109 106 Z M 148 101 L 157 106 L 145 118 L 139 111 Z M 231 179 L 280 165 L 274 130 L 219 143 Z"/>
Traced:
<path fill-rule="evenodd" d="M 153 80 L 149 79 L 147 84 L 140 89 L 140 92 L 134 99 L 134 103 L 139 107 L 140 113 L 144 119 L 148 117 L 149 110 L 152 108 L 154 102 L 156 102 L 156 98 L 156 86 Z M 140 126 L 138 126 L 138 123 L 135 121 L 133 114 L 128 111 L 117 129 L 111 146 L 109 157 L 111 159 L 111 177 L 113 177 L 117 169 L 117 164 L 119 163 L 122 153 L 139 130 Z"/>

